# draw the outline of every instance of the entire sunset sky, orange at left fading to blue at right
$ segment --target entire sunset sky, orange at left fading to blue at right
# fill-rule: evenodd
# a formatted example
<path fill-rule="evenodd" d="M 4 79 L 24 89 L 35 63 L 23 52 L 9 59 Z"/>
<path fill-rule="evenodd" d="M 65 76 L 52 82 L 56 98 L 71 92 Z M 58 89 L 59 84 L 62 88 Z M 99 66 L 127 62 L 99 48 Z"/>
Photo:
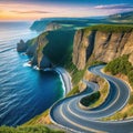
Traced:
<path fill-rule="evenodd" d="M 0 21 L 101 17 L 133 11 L 133 0 L 0 0 Z"/>

